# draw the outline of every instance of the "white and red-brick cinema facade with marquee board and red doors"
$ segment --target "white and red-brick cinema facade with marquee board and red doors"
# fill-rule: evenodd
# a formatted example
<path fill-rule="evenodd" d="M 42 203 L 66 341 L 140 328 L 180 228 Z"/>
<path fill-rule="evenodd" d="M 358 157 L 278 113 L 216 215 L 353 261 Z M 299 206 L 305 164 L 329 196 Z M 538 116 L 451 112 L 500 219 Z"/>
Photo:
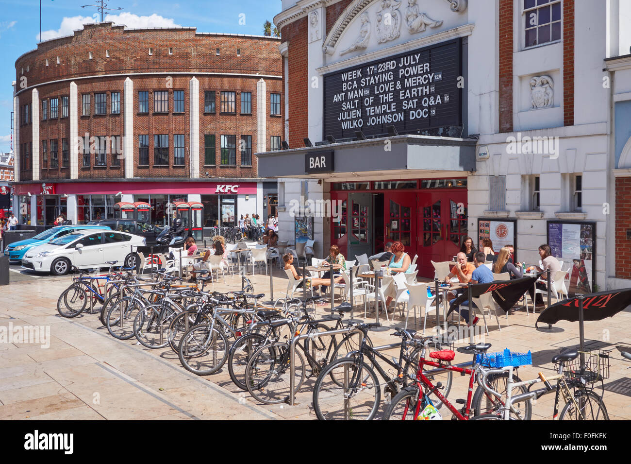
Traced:
<path fill-rule="evenodd" d="M 466 236 L 512 244 L 528 263 L 550 243 L 570 293 L 631 286 L 604 259 L 616 255 L 614 176 L 625 175 L 610 105 L 631 97 L 603 68 L 628 50 L 626 6 L 282 4 L 287 143 L 257 153 L 259 175 L 278 179 L 281 239 L 307 231 L 316 254 L 337 244 L 349 259 L 399 240 L 422 277 Z M 309 200 L 339 208 L 311 219 L 295 208 Z"/>

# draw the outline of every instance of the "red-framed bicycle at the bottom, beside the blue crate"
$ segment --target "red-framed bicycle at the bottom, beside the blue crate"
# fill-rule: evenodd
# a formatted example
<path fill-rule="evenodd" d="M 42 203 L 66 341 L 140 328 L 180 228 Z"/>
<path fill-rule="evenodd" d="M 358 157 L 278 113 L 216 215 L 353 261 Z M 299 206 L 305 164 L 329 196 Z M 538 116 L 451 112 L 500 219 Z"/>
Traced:
<path fill-rule="evenodd" d="M 487 377 L 488 383 L 493 384 L 493 390 L 500 393 L 502 395 L 501 398 L 492 396 L 480 386 L 476 388 L 475 393 L 473 391 L 473 384 L 476 382 L 478 374 L 484 369 L 476 362 L 476 355 L 485 354 L 488 348 L 491 347 L 490 343 L 478 343 L 477 345 L 464 347 L 464 351 L 473 355 L 473 362 L 451 366 L 443 363 L 454 359 L 456 354 L 452 350 L 433 351 L 430 353 L 430 358 L 435 360 L 425 359 L 429 340 L 429 338 L 425 339 L 424 347 L 418 360 L 415 383 L 413 386 L 404 388 L 392 398 L 392 402 L 384 414 L 384 420 L 419 419 L 419 414 L 423 412 L 428 404 L 432 403 L 430 395 L 434 395 L 435 398 L 447 406 L 452 413 L 452 420 L 469 420 L 476 415 L 493 412 L 503 407 L 507 396 L 507 375 L 492 374 Z M 429 371 L 423 370 L 427 369 L 428 366 L 436 367 L 437 369 Z M 460 409 L 452 405 L 452 403 L 440 393 L 440 387 L 442 386 L 440 382 L 434 385 L 430 379 L 428 379 L 428 377 L 435 376 L 445 371 L 459 372 L 461 376 L 469 375 L 469 387 L 466 400 L 456 400 L 457 404 L 464 405 Z M 515 374 L 513 374 L 513 378 L 516 378 Z M 521 392 L 514 392 L 514 394 L 527 392 L 526 388 L 523 386 L 519 388 L 519 390 L 521 390 Z M 519 408 L 521 409 L 516 409 L 511 412 L 511 416 L 515 419 L 529 420 L 531 417 L 530 403 L 520 403 Z"/>

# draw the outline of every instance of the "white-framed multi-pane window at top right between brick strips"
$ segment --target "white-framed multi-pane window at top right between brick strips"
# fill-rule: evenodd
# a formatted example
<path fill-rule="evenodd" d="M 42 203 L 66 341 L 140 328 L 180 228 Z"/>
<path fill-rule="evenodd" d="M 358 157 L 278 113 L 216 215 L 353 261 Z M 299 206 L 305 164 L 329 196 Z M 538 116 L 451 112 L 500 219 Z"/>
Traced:
<path fill-rule="evenodd" d="M 561 39 L 561 1 L 524 0 L 526 47 Z"/>

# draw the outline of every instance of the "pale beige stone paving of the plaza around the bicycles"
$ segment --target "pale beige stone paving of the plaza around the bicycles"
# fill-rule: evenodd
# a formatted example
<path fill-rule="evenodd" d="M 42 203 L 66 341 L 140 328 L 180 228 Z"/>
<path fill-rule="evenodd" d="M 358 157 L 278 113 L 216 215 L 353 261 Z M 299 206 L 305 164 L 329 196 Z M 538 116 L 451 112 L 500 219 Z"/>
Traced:
<path fill-rule="evenodd" d="M 278 297 L 286 290 L 286 280 L 278 268 L 274 272 L 274 295 Z M 257 274 L 251 280 L 256 292 L 269 294 L 269 277 Z M 311 405 L 315 378 L 305 381 L 293 407 L 259 405 L 234 386 L 226 366 L 212 376 L 195 376 L 180 366 L 170 348 L 150 350 L 135 338 L 115 340 L 97 314 L 62 318 L 57 314 L 57 298 L 70 282 L 68 276 L 19 278 L 4 287 L 0 325 L 8 329 L 40 326 L 42 334 L 49 330 L 50 336 L 40 340 L 49 345 L 44 348 L 20 340 L 0 343 L 0 419 L 315 419 Z M 228 277 L 226 284 L 216 283 L 213 289 L 240 289 L 239 276 Z M 374 321 L 374 314 L 363 318 L 359 303 L 356 317 Z M 327 309 L 329 306 L 318 307 L 317 312 L 326 314 Z M 432 312 L 427 335 L 432 333 L 433 317 Z M 485 338 L 493 345 L 490 351 L 505 347 L 531 350 L 533 366 L 519 369 L 522 379 L 534 378 L 539 371 L 551 373 L 553 354 L 579 342 L 577 323 L 561 321 L 553 333 L 538 331 L 534 328 L 536 316 L 519 310 L 508 320 L 500 317 L 500 331 L 492 319 L 490 335 Z M 398 313 L 394 321 L 381 320 L 391 328 L 404 323 Z M 422 330 L 422 325 L 410 327 Z M 392 343 L 391 333 L 371 333 L 374 345 Z M 586 322 L 585 334 L 593 347 L 612 350 L 604 395 L 611 419 L 631 419 L 627 370 L 631 363 L 620 355 L 620 349 L 631 348 L 631 309 L 604 321 Z M 457 351 L 464 345 L 456 343 L 454 363 L 470 359 Z M 398 352 L 393 350 L 392 355 L 398 356 Z M 467 381 L 468 377 L 454 376 L 451 400 L 466 397 Z M 533 419 L 551 419 L 553 400 L 554 395 L 546 395 L 536 403 Z"/>

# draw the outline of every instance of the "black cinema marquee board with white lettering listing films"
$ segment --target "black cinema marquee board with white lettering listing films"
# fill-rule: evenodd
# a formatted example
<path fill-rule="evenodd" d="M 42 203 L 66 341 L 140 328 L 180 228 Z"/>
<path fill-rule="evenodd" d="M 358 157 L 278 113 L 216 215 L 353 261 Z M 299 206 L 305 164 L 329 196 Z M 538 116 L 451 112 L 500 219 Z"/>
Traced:
<path fill-rule="evenodd" d="M 461 69 L 456 39 L 326 74 L 322 138 L 459 126 Z"/>

